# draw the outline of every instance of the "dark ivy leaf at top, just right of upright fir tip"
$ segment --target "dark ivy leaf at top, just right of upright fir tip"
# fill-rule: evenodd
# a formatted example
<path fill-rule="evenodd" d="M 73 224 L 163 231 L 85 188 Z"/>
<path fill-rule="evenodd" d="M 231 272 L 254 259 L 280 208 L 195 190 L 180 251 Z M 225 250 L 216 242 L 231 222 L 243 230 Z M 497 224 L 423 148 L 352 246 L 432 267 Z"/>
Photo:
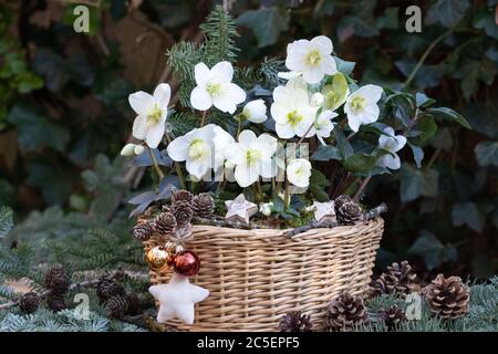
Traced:
<path fill-rule="evenodd" d="M 236 20 L 237 24 L 247 27 L 255 33 L 259 48 L 277 43 L 280 32 L 289 29 L 289 12 L 278 7 L 249 10 Z"/>

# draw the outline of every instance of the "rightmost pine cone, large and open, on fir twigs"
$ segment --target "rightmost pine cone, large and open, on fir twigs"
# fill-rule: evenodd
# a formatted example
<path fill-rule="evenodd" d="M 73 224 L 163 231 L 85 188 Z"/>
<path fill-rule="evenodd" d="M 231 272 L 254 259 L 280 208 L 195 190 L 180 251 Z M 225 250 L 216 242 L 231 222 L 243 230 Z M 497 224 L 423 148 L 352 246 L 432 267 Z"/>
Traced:
<path fill-rule="evenodd" d="M 458 319 L 468 313 L 469 289 L 459 277 L 438 274 L 424 289 L 430 312 L 442 319 Z"/>

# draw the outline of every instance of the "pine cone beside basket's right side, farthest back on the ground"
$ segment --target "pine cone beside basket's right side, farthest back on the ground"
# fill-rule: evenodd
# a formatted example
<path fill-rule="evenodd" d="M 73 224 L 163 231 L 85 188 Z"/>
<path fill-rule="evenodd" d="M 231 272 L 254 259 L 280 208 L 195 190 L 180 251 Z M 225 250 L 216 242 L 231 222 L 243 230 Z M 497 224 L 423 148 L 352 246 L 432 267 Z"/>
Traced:
<path fill-rule="evenodd" d="M 408 294 L 418 290 L 417 274 L 412 271 L 408 261 L 394 262 L 387 267 L 387 272 L 382 273 L 373 283 L 374 294 L 390 294 L 397 292 Z"/>

